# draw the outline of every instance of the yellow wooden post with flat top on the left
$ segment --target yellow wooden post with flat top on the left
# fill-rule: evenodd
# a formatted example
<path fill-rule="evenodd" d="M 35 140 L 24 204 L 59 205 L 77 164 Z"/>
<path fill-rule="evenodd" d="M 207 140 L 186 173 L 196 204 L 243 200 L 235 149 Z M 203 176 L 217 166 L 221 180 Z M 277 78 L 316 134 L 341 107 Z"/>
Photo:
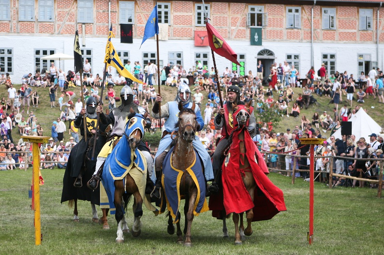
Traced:
<path fill-rule="evenodd" d="M 34 198 L 34 227 L 35 227 L 35 245 L 41 244 L 41 223 L 40 223 L 40 184 L 39 184 L 39 168 L 40 168 L 40 150 L 39 143 L 48 142 L 48 136 L 21 136 L 24 141 L 32 142 L 32 158 L 33 158 L 33 198 Z M 26 162 L 27 164 L 27 162 Z"/>

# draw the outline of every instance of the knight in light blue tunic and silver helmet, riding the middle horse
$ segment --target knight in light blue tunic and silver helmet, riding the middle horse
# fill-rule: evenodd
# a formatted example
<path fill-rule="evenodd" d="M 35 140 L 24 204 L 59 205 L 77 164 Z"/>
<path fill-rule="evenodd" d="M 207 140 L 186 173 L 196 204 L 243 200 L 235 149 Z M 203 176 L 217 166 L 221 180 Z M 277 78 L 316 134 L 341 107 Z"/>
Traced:
<path fill-rule="evenodd" d="M 151 193 L 151 197 L 154 199 L 160 199 L 160 189 L 161 189 L 161 169 L 165 156 L 167 155 L 169 149 L 171 148 L 171 143 L 173 138 L 177 134 L 178 127 L 176 126 L 178 121 L 178 103 L 182 102 L 183 108 L 192 108 L 191 99 L 191 90 L 189 86 L 185 83 L 181 83 L 177 90 L 177 95 L 175 101 L 167 102 L 164 105 L 161 105 L 161 118 L 167 118 L 164 123 L 164 132 L 162 134 L 158 151 L 155 155 L 155 172 L 156 172 L 156 186 Z M 162 101 L 160 95 L 157 96 L 156 102 L 152 108 L 152 117 L 159 118 L 159 102 Z M 201 116 L 200 108 L 196 105 L 194 112 L 196 113 L 196 131 L 201 131 L 204 127 L 204 120 Z M 198 152 L 200 158 L 203 161 L 205 169 L 205 179 L 206 181 L 213 180 L 214 175 L 212 171 L 212 165 L 210 156 L 207 150 L 204 148 L 203 144 L 199 141 L 197 136 L 192 141 L 194 149 Z"/>

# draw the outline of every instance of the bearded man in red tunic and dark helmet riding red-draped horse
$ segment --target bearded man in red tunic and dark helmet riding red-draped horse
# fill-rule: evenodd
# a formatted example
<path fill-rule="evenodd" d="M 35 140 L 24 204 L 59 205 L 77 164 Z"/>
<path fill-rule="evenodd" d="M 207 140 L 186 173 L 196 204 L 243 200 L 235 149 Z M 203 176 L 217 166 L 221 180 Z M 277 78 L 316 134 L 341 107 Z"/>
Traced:
<path fill-rule="evenodd" d="M 219 190 L 217 181 L 221 179 L 220 173 L 221 173 L 222 163 L 224 160 L 223 154 L 224 154 L 224 151 L 230 146 L 231 141 L 228 140 L 228 138 L 231 135 L 232 130 L 236 128 L 233 126 L 232 104 L 244 105 L 244 103 L 240 101 L 240 88 L 238 86 L 232 85 L 228 87 L 227 95 L 228 95 L 229 101 L 224 105 L 223 108 L 219 110 L 219 114 L 217 114 L 215 118 L 215 129 L 219 130 L 223 128 L 221 132 L 223 136 L 219 140 L 216 146 L 216 150 L 213 153 L 212 167 L 213 167 L 215 180 L 209 186 L 210 193 L 217 193 Z M 256 120 L 255 120 L 255 115 L 252 111 L 250 113 L 249 126 L 248 126 L 248 132 L 251 135 L 251 137 L 256 135 L 255 131 L 256 131 Z"/>

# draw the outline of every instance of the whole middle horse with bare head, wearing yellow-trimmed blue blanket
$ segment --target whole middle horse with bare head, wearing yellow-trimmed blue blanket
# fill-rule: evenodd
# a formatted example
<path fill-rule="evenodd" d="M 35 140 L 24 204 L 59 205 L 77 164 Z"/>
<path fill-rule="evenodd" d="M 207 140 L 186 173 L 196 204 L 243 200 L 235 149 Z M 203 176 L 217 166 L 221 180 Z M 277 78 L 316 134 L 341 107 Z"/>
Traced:
<path fill-rule="evenodd" d="M 179 114 L 176 128 L 178 128 L 175 139 L 175 146 L 166 155 L 163 162 L 163 198 L 168 208 L 168 233 L 174 234 L 177 226 L 177 243 L 191 246 L 191 227 L 194 215 L 208 210 L 205 198 L 204 166 L 199 155 L 193 149 L 192 141 L 196 133 L 196 114 L 195 104 L 192 108 L 183 108 L 181 102 L 178 105 Z M 182 238 L 180 228 L 180 199 L 185 199 L 184 215 L 184 235 Z"/>

